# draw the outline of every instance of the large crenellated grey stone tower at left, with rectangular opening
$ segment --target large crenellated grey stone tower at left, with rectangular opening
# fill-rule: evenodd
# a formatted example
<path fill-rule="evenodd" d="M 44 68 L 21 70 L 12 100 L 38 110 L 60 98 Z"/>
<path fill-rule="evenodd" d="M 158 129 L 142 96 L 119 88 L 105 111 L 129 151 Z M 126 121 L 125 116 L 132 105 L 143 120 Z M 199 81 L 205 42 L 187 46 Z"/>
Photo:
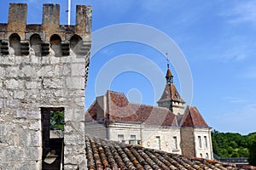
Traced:
<path fill-rule="evenodd" d="M 41 25 L 27 25 L 26 15 L 25 3 L 11 3 L 8 24 L 0 24 L 0 169 L 44 168 L 55 111 L 64 112 L 65 125 L 55 155 L 65 169 L 86 169 L 91 8 L 77 6 L 75 26 L 60 26 L 59 4 L 44 4 Z"/>

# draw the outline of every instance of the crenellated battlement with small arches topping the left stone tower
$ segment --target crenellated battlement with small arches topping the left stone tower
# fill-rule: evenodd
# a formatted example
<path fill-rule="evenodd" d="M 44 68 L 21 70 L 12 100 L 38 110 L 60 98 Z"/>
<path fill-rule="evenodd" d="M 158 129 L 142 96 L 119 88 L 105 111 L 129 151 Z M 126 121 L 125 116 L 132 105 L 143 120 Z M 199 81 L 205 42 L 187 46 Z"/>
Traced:
<path fill-rule="evenodd" d="M 26 3 L 9 4 L 8 23 L 0 24 L 0 55 L 28 55 L 32 49 L 35 55 L 46 56 L 51 48 L 55 56 L 67 56 L 77 44 L 75 54 L 85 54 L 84 49 L 90 48 L 90 6 L 77 6 L 75 26 L 60 25 L 59 4 L 43 5 L 41 25 L 27 25 L 26 17 Z"/>

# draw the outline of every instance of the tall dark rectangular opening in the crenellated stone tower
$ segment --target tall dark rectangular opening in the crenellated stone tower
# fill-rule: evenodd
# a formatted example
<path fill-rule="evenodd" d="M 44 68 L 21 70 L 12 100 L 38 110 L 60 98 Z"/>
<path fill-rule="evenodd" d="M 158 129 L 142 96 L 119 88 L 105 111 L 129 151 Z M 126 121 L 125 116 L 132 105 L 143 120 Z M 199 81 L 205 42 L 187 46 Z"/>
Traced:
<path fill-rule="evenodd" d="M 42 169 L 61 169 L 64 162 L 64 108 L 41 108 Z"/>

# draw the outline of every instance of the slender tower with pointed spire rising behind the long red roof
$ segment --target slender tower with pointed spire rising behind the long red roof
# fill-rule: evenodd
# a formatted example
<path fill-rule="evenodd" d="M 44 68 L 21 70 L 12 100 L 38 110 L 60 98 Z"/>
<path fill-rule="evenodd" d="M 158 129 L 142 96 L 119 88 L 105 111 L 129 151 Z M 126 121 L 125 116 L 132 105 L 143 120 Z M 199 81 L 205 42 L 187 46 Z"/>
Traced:
<path fill-rule="evenodd" d="M 182 115 L 184 112 L 185 102 L 178 94 L 177 88 L 173 83 L 173 76 L 169 69 L 169 64 L 167 64 L 166 88 L 157 104 L 159 107 L 168 108 L 175 115 Z"/>

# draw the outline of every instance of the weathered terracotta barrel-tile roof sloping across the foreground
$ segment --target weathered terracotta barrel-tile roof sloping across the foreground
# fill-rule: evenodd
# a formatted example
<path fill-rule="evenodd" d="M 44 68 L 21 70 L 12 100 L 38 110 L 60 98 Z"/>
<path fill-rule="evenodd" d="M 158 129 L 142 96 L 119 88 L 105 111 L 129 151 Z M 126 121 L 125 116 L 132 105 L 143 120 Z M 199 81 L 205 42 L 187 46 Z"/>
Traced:
<path fill-rule="evenodd" d="M 143 148 L 140 145 L 85 137 L 88 169 L 214 169 L 229 170 L 236 168 L 233 164 L 189 158 L 161 150 Z"/>

